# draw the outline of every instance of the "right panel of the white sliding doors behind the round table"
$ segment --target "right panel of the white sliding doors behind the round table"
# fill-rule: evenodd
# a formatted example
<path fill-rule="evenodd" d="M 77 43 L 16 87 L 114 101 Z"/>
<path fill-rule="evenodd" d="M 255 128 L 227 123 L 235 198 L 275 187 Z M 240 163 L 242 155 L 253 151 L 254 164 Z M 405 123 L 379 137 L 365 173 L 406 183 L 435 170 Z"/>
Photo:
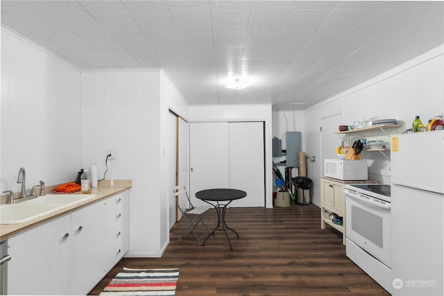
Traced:
<path fill-rule="evenodd" d="M 264 207 L 264 123 L 228 123 L 230 188 L 246 191 L 232 207 Z"/>

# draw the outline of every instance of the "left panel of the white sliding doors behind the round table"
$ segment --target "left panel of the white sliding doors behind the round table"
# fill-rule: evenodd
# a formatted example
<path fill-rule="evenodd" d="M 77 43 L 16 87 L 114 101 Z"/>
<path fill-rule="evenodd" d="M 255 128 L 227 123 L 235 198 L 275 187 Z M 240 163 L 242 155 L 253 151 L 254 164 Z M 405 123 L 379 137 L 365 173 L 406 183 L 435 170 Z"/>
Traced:
<path fill-rule="evenodd" d="M 196 192 L 229 188 L 228 123 L 189 123 L 189 143 L 189 194 L 196 206 L 205 204 Z"/>

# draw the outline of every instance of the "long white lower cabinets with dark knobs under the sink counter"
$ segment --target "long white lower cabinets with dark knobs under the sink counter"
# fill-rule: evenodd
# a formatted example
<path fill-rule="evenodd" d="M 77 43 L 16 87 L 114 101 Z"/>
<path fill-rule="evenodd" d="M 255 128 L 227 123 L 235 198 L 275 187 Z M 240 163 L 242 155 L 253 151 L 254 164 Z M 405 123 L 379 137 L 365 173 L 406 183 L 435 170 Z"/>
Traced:
<path fill-rule="evenodd" d="M 86 295 L 128 252 L 128 191 L 8 239 L 8 294 Z"/>

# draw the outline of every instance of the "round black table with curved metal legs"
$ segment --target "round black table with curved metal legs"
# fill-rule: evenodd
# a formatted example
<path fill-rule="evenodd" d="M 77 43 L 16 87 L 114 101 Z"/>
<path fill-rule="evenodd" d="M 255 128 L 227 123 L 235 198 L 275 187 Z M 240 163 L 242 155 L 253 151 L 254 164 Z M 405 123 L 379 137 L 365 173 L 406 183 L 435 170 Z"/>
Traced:
<path fill-rule="evenodd" d="M 207 238 L 210 237 L 210 235 L 214 235 L 214 232 L 216 230 L 223 230 L 225 233 L 225 236 L 228 239 L 228 243 L 230 244 L 230 250 L 233 250 L 231 246 L 230 238 L 227 234 L 227 229 L 230 229 L 232 232 L 234 232 L 239 238 L 239 234 L 237 234 L 234 229 L 227 226 L 225 223 L 225 211 L 227 209 L 228 204 L 230 204 L 233 200 L 239 200 L 241 198 L 245 198 L 247 193 L 245 191 L 241 191 L 238 189 L 206 189 L 202 191 L 196 192 L 196 198 L 199 200 L 203 200 L 204 202 L 207 202 L 208 204 L 211 204 L 214 209 L 216 209 L 217 212 L 217 225 L 214 230 L 207 235 L 205 238 L 205 241 L 203 241 L 202 245 L 205 245 L 205 242 L 207 241 Z M 212 202 L 216 202 L 216 204 L 213 204 Z"/>

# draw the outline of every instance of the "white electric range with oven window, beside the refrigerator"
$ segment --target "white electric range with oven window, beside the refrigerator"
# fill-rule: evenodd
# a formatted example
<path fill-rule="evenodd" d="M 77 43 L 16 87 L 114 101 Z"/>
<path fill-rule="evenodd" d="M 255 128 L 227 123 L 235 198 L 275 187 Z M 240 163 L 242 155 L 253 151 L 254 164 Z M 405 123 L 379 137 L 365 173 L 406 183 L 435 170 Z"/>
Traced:
<path fill-rule="evenodd" d="M 344 193 L 346 254 L 391 293 L 391 186 L 349 184 Z"/>

